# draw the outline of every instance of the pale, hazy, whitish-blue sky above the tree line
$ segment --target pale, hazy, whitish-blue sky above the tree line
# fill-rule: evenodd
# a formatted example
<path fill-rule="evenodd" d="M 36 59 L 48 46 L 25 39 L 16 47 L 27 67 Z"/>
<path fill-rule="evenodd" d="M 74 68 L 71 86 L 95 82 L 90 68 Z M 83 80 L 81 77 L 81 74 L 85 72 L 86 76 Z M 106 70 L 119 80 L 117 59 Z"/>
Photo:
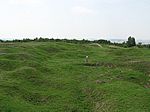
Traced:
<path fill-rule="evenodd" d="M 0 0 L 0 39 L 150 39 L 150 0 Z"/>

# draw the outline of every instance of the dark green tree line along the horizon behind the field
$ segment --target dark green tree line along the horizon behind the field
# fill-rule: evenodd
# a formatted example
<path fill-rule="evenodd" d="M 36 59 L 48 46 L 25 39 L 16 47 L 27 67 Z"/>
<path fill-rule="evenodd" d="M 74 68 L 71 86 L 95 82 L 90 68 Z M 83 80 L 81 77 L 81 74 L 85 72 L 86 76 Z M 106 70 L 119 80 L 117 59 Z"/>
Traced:
<path fill-rule="evenodd" d="M 136 44 L 136 40 L 134 37 L 129 37 L 126 42 L 123 43 L 116 43 L 116 42 L 111 42 L 109 40 L 77 40 L 77 39 L 54 39 L 54 38 L 34 38 L 34 39 L 29 39 L 25 38 L 22 40 L 15 39 L 15 40 L 1 40 L 0 43 L 8 43 L 8 42 L 67 42 L 67 43 L 75 43 L 75 44 L 87 44 L 87 43 L 98 43 L 98 44 L 105 44 L 105 45 L 115 45 L 115 46 L 120 46 L 120 47 L 134 47 L 137 46 L 139 48 L 150 48 L 150 44 L 142 44 L 138 43 Z"/>

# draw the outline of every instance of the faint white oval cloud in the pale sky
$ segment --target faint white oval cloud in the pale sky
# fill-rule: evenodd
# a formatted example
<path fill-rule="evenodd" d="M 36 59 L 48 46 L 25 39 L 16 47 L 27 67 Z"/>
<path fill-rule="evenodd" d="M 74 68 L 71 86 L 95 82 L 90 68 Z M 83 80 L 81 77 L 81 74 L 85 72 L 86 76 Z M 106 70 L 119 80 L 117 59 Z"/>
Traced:
<path fill-rule="evenodd" d="M 72 12 L 79 15 L 88 15 L 92 14 L 93 10 L 86 7 L 76 6 L 72 8 Z"/>

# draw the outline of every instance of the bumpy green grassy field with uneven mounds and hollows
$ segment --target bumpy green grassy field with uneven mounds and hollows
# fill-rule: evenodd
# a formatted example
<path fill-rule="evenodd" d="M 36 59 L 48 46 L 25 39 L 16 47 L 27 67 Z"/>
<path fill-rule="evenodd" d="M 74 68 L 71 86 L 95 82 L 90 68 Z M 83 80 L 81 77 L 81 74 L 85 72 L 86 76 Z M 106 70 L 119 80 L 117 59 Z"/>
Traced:
<path fill-rule="evenodd" d="M 0 43 L 0 112 L 150 112 L 149 88 L 149 49 Z"/>

